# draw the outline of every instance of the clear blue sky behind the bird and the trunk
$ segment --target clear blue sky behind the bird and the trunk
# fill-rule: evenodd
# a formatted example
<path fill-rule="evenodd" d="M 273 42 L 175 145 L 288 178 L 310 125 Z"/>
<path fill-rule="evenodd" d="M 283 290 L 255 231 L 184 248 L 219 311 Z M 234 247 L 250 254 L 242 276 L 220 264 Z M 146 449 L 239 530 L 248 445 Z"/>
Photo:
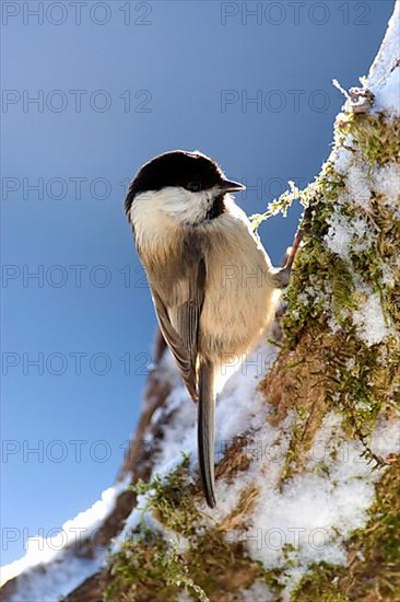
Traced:
<path fill-rule="evenodd" d="M 304 186 L 330 151 L 331 80 L 366 74 L 392 7 L 1 3 L 2 563 L 98 498 L 139 416 L 155 319 L 128 178 L 183 148 L 247 183 L 248 213 Z M 260 229 L 275 264 L 299 212 Z"/>

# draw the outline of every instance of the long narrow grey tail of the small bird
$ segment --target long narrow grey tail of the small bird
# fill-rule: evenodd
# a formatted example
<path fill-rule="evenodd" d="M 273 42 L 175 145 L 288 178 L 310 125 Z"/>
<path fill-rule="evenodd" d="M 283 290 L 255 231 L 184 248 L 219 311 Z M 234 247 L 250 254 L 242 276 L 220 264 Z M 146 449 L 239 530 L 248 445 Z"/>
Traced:
<path fill-rule="evenodd" d="M 214 491 L 214 367 L 202 360 L 199 369 L 198 448 L 199 467 L 207 503 L 215 507 Z"/>

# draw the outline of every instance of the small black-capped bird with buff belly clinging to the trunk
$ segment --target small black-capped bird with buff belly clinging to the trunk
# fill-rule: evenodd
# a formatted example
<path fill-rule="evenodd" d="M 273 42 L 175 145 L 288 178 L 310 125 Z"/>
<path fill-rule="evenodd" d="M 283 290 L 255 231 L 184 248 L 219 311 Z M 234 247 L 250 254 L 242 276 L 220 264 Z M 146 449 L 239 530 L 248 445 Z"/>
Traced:
<path fill-rule="evenodd" d="M 292 265 L 272 267 L 231 195 L 243 189 L 205 154 L 175 150 L 145 163 L 125 200 L 161 332 L 198 402 L 199 472 L 211 508 L 219 377 L 259 340 Z"/>

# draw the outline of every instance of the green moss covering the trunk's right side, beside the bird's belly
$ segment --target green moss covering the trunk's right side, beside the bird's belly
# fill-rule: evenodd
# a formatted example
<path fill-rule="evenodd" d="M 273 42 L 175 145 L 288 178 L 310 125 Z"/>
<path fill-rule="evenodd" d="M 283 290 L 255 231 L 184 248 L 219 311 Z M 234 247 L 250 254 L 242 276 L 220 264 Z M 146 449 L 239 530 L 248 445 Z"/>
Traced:
<path fill-rule="evenodd" d="M 336 149 L 344 144 L 348 135 L 352 137 L 355 159 L 361 162 L 364 160 L 374 166 L 400 159 L 399 120 L 388 121 L 381 115 L 341 114 L 336 127 Z M 400 222 L 393 219 L 379 195 L 373 194 L 368 208 L 364 210 L 351 195 L 343 194 L 345 189 L 345 177 L 334 171 L 330 160 L 316 182 L 301 193 L 303 204 L 308 207 L 301 224 L 305 245 L 296 258 L 286 292 L 287 310 L 282 320 L 283 346 L 297 349 L 303 333 L 309 331 L 310 324 L 316 333 L 323 334 L 331 329 L 329 324 L 333 319 L 339 344 L 330 345 L 331 354 L 329 348 L 317 350 L 317 354 L 325 355 L 326 374 L 323 377 L 321 373 L 321 379 L 326 381 L 326 401 L 330 407 L 340 410 L 348 435 L 357 437 L 367 456 L 381 464 L 381 460 L 369 450 L 368 437 L 379 413 L 388 403 L 395 403 L 396 393 L 400 390 L 400 344 L 393 336 L 380 345 L 366 346 L 357 337 L 351 315 L 361 302 L 367 300 L 360 292 L 358 282 L 363 282 L 379 294 L 387 324 L 399 328 L 400 274 L 397 257 Z M 352 250 L 351 243 L 346 259 L 332 253 L 323 238 L 333 216 L 336 219 L 342 217 L 349 223 L 357 218 L 366 220 L 375 232 L 370 244 Z M 387 281 L 384 266 L 390 266 L 392 282 Z M 323 337 L 321 341 L 325 347 Z M 390 354 L 386 352 L 387 349 Z M 301 359 L 298 354 L 296 359 Z M 303 433 L 302 419 L 295 421 L 293 429 L 287 458 L 290 465 L 298 455 L 299 433 Z"/>

